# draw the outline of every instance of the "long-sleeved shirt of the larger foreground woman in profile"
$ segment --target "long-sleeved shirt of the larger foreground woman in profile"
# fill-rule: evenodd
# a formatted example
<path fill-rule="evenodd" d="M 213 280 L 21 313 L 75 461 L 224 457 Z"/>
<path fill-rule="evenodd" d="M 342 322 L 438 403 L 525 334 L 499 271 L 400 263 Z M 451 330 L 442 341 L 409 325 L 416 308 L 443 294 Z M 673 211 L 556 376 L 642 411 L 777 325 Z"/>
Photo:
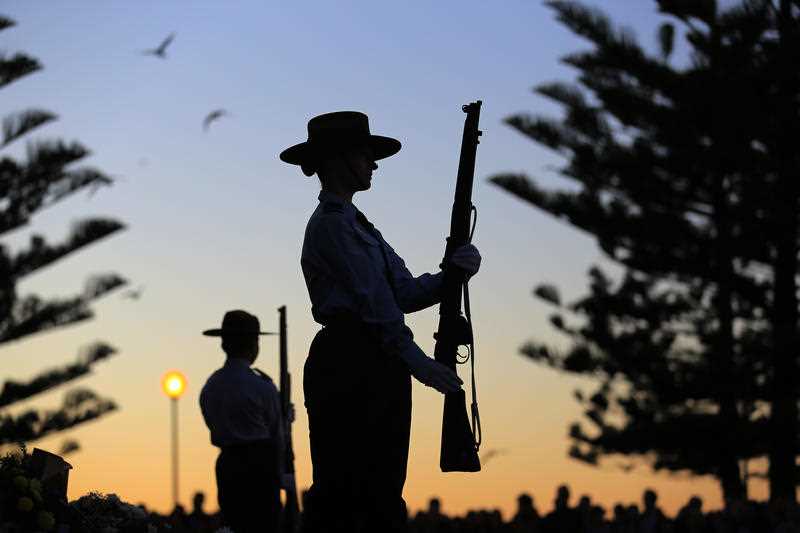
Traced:
<path fill-rule="evenodd" d="M 326 191 L 319 201 L 300 261 L 314 320 L 356 316 L 374 327 L 386 353 L 406 362 L 425 357 L 403 314 L 439 303 L 442 273 L 413 276 L 381 233 L 359 222 L 352 203 Z"/>

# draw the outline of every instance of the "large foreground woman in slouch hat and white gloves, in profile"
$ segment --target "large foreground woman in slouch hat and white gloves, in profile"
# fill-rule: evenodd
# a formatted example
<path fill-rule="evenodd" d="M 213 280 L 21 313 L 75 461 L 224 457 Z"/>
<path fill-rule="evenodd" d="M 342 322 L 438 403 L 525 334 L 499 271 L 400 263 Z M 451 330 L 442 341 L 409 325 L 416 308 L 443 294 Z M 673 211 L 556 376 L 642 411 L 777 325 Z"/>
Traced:
<path fill-rule="evenodd" d="M 319 530 L 405 529 L 410 374 L 443 393 L 461 385 L 423 353 L 403 320 L 439 302 L 441 273 L 412 276 L 352 203 L 370 188 L 375 161 L 399 150 L 396 139 L 370 134 L 366 115 L 342 111 L 312 118 L 308 140 L 280 155 L 322 185 L 301 259 L 314 320 L 324 326 L 304 373 Z M 480 255 L 464 246 L 453 262 L 472 275 Z M 365 502 L 365 512 L 352 502 Z"/>

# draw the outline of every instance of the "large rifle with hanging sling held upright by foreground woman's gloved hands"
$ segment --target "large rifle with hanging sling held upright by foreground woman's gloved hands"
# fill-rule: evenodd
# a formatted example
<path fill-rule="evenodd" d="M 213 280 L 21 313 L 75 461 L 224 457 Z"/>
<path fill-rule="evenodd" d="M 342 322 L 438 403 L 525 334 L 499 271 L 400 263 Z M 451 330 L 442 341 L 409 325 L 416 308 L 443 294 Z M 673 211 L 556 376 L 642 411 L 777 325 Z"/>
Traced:
<path fill-rule="evenodd" d="M 467 358 L 472 360 L 472 425 L 467 416 L 466 396 L 463 390 L 447 393 L 444 396 L 442 414 L 442 448 L 439 467 L 442 472 L 478 472 L 481 462 L 478 458 L 481 429 L 478 414 L 478 400 L 475 391 L 475 346 L 472 334 L 472 320 L 469 311 L 469 291 L 464 272 L 450 264 L 456 248 L 468 244 L 472 239 L 472 214 L 477 215 L 472 205 L 472 180 L 475 175 L 475 154 L 478 151 L 478 119 L 481 101 L 461 107 L 467 114 L 464 120 L 464 134 L 461 139 L 461 155 L 458 161 L 456 191 L 453 211 L 450 218 L 450 236 L 447 237 L 444 259 L 440 265 L 444 272 L 442 281 L 442 302 L 439 305 L 439 329 L 434 334 L 436 347 L 434 357 L 453 371 L 459 359 L 459 346 L 467 346 Z M 461 314 L 461 295 L 464 294 L 464 311 Z"/>

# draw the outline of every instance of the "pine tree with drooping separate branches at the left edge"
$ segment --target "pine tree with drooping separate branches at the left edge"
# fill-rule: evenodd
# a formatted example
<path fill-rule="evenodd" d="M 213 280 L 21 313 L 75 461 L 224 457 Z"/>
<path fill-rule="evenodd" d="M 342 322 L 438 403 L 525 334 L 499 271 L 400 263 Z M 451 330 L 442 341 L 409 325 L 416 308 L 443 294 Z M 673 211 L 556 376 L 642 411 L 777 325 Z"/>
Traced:
<path fill-rule="evenodd" d="M 0 16 L 0 31 L 14 25 L 14 21 Z M 39 61 L 24 53 L 0 54 L 0 88 L 41 68 Z M 55 114 L 41 109 L 7 115 L 2 121 L 0 150 L 7 153 L 12 144 L 56 119 Z M 101 171 L 75 167 L 88 155 L 89 151 L 80 143 L 60 139 L 29 140 L 23 160 L 0 154 L 0 235 L 25 228 L 37 212 L 79 191 L 111 185 L 112 179 Z M 17 283 L 123 228 L 117 220 L 86 218 L 73 225 L 63 242 L 51 243 L 34 233 L 23 250 L 12 251 L 0 243 L 0 344 L 91 319 L 90 304 L 124 285 L 122 277 L 114 273 L 91 276 L 82 293 L 61 299 L 18 295 Z M 115 352 L 109 344 L 96 342 L 83 349 L 73 363 L 44 370 L 29 381 L 8 379 L 0 390 L 0 409 L 85 376 L 96 363 Z M 1 413 L 0 445 L 35 441 L 116 408 L 112 400 L 87 388 L 70 390 L 56 410 L 26 409 L 16 416 Z M 77 447 L 74 441 L 67 444 L 65 449 Z"/>

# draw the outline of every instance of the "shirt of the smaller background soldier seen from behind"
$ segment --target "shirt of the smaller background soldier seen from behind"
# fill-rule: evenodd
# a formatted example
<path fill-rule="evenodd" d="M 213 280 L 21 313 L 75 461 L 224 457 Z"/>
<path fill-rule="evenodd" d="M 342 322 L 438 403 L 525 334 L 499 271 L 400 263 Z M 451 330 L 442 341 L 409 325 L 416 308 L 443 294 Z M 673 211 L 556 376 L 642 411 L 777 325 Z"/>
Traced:
<path fill-rule="evenodd" d="M 281 404 L 271 379 L 256 375 L 247 361 L 228 358 L 200 391 L 200 410 L 219 448 L 272 439 L 283 445 Z"/>

